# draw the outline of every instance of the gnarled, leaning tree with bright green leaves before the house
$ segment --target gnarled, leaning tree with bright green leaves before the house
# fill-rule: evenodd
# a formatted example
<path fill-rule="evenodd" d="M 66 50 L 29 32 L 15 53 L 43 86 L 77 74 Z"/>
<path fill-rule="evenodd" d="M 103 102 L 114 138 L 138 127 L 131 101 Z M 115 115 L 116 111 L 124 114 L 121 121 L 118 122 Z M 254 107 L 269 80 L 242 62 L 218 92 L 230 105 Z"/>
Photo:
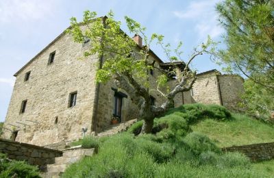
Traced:
<path fill-rule="evenodd" d="M 145 45 L 138 47 L 136 42 L 121 30 L 121 22 L 114 20 L 112 12 L 108 14 L 108 17 L 97 18 L 96 12 L 86 11 L 82 23 L 78 23 L 74 17 L 71 18 L 71 28 L 68 29 L 68 32 L 72 34 L 75 42 L 82 43 L 87 38 L 90 40 L 89 48 L 84 52 L 84 56 L 96 54 L 105 59 L 103 65 L 99 66 L 97 70 L 97 81 L 107 82 L 114 79 L 116 85 L 125 90 L 138 106 L 140 118 L 144 120 L 142 133 L 149 133 L 153 127 L 153 119 L 174 107 L 175 95 L 190 90 L 195 82 L 196 72 L 190 70 L 189 64 L 198 55 L 212 53 L 214 42 L 208 38 L 206 44 L 195 48 L 183 71 L 175 69 L 164 71 L 161 68 L 156 68 L 153 62 L 149 61 L 151 43 L 160 44 L 172 63 L 180 60 L 182 42 L 179 42 L 178 47 L 174 50 L 177 55 L 175 57 L 172 55 L 170 44 L 164 44 L 164 36 L 158 34 L 146 36 L 145 27 L 128 16 L 125 16 L 125 22 L 127 30 L 132 34 L 142 36 Z M 151 86 L 149 86 L 147 75 L 151 68 L 160 70 L 162 73 L 158 76 L 158 88 L 153 89 L 158 90 L 166 98 L 166 101 L 158 106 L 151 105 L 149 94 Z M 177 84 L 172 90 L 167 90 L 165 84 L 171 73 L 177 76 Z"/>

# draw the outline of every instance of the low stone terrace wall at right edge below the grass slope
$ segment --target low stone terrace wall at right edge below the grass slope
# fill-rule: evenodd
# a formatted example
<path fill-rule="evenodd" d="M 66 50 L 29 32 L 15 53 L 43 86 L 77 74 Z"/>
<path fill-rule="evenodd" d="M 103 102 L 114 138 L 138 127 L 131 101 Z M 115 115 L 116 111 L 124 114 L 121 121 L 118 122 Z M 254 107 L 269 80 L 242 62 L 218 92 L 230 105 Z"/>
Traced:
<path fill-rule="evenodd" d="M 271 160 L 274 158 L 274 142 L 228 147 L 223 148 L 223 151 L 243 153 L 253 162 Z"/>

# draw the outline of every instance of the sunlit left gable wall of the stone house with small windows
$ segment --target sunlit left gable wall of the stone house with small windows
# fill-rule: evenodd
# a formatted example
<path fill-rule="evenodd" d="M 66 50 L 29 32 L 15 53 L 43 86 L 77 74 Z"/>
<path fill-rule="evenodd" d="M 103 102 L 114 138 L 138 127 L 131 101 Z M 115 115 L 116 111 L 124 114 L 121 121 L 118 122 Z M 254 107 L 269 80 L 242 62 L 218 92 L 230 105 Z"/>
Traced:
<path fill-rule="evenodd" d="M 36 145 L 52 144 L 82 137 L 82 128 L 91 131 L 95 98 L 97 56 L 82 58 L 86 47 L 62 34 L 16 73 L 16 82 L 5 118 L 3 138 Z M 52 64 L 49 55 L 55 51 Z M 25 74 L 31 71 L 29 80 Z M 77 91 L 77 103 L 69 107 L 69 95 Z M 20 113 L 27 99 L 25 113 Z"/>

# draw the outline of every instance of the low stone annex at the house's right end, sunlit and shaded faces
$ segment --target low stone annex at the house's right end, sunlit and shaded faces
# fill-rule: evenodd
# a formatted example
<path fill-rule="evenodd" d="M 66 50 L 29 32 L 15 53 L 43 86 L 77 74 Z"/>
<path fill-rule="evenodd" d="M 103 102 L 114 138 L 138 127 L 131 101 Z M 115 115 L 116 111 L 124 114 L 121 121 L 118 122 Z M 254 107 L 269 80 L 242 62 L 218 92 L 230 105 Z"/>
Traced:
<path fill-rule="evenodd" d="M 243 83 L 244 79 L 239 75 L 222 75 L 216 70 L 200 73 L 190 91 L 194 100 L 190 103 L 224 105 L 230 110 L 238 110 Z"/>

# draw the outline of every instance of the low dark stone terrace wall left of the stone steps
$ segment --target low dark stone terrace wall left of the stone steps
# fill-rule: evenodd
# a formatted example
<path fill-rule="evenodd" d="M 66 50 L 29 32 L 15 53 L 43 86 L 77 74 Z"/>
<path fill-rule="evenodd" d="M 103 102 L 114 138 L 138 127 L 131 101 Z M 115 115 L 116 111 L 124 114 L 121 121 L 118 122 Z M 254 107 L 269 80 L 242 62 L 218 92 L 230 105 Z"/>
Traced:
<path fill-rule="evenodd" d="M 53 164 L 55 157 L 62 156 L 62 151 L 3 139 L 0 139 L 0 153 L 7 154 L 12 160 L 25 160 L 29 164 L 38 165 L 40 170 L 47 164 Z"/>

